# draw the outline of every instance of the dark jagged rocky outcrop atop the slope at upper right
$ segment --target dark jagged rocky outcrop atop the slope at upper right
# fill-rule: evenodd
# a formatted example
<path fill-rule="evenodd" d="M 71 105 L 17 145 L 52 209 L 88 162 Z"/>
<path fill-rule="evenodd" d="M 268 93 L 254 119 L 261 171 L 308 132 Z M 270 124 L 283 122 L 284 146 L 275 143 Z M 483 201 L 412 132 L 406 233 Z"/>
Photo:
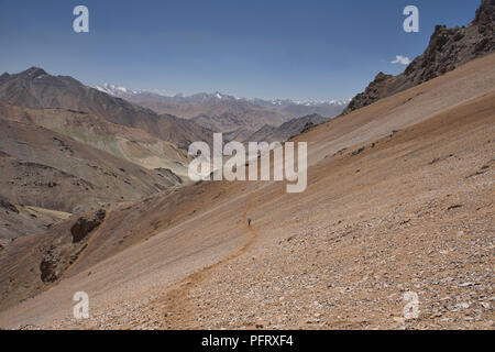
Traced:
<path fill-rule="evenodd" d="M 437 25 L 427 50 L 398 76 L 380 73 L 364 92 L 355 96 L 342 114 L 453 70 L 471 59 L 494 52 L 495 0 L 483 0 L 468 28 Z"/>

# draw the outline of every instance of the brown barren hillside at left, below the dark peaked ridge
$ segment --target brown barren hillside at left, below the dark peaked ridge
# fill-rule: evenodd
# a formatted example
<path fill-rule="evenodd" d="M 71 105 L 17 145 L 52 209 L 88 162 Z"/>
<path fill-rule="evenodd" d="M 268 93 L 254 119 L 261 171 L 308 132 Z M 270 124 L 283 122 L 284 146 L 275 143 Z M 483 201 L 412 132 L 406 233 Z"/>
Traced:
<path fill-rule="evenodd" d="M 45 230 L 66 217 L 56 211 L 136 200 L 180 182 L 33 123 L 0 121 L 0 195 L 14 207 L 0 212 L 1 238 Z"/>

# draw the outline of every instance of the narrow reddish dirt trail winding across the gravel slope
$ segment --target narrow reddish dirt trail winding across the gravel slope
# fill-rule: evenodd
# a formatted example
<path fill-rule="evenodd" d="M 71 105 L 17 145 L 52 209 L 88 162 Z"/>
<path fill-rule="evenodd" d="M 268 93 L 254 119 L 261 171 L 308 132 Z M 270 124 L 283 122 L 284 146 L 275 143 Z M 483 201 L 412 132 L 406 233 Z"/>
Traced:
<path fill-rule="evenodd" d="M 162 307 L 161 309 L 165 319 L 164 327 L 167 329 L 184 329 L 185 327 L 195 328 L 194 324 L 197 306 L 195 306 L 195 302 L 191 301 L 190 292 L 201 285 L 201 283 L 220 265 L 235 260 L 253 246 L 256 239 L 260 237 L 256 229 L 254 229 L 252 224 L 248 224 L 248 215 L 252 210 L 254 196 L 255 195 L 251 195 L 248 206 L 244 208 L 244 212 L 242 215 L 243 227 L 245 231 L 251 234 L 248 242 L 219 262 L 206 266 L 199 272 L 182 279 L 168 292 L 168 294 L 165 295 L 165 297 L 152 304 L 153 306 L 156 305 Z"/>

